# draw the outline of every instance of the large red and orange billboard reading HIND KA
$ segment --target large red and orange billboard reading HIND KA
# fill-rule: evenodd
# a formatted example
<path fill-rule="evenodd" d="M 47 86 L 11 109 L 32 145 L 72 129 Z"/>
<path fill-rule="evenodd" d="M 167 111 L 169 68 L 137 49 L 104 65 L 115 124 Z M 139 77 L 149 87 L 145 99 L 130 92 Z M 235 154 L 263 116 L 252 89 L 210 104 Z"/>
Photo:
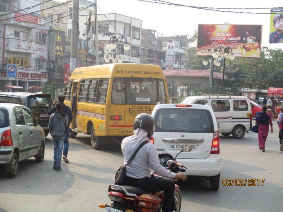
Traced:
<path fill-rule="evenodd" d="M 235 57 L 260 57 L 262 25 L 199 24 L 196 55 L 227 45 Z"/>

